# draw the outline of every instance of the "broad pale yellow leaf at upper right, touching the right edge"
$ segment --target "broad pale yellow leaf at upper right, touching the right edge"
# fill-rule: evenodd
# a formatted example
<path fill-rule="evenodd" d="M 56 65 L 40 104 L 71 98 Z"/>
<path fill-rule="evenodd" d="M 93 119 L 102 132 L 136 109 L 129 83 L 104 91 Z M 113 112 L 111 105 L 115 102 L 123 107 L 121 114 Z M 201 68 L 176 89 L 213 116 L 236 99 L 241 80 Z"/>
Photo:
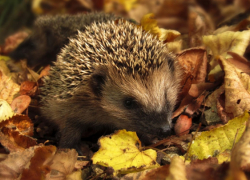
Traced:
<path fill-rule="evenodd" d="M 226 31 L 217 35 L 209 35 L 203 37 L 203 43 L 212 51 L 212 59 L 210 61 L 211 70 L 218 66 L 218 62 L 215 60 L 216 56 L 222 56 L 224 58 L 230 58 L 227 54 L 228 51 L 235 52 L 239 55 L 243 55 L 246 47 L 249 44 L 250 30 L 242 32 Z M 220 67 L 217 67 L 220 69 Z M 209 79 L 216 78 L 218 69 L 209 73 Z M 219 70 L 221 72 L 221 69 Z"/>

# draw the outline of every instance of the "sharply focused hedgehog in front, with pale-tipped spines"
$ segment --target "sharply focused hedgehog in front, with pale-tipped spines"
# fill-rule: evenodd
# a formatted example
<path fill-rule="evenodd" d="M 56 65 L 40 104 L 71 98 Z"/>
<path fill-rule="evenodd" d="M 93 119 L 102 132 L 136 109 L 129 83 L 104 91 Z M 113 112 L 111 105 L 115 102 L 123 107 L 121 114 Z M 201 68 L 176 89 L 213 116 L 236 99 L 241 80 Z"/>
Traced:
<path fill-rule="evenodd" d="M 44 77 L 41 113 L 60 148 L 79 152 L 89 129 L 135 131 L 148 141 L 171 132 L 180 69 L 166 45 L 126 20 L 97 21 L 70 38 Z"/>

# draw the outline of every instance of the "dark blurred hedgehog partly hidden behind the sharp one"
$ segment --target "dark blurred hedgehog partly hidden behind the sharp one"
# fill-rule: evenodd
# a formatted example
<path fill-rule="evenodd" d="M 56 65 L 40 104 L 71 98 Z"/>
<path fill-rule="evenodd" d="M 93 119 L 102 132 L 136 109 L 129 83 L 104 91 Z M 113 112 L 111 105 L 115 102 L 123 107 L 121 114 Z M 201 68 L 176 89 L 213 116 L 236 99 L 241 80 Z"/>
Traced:
<path fill-rule="evenodd" d="M 41 16 L 34 23 L 33 33 L 10 53 L 8 66 L 13 71 L 21 71 L 18 67 L 20 59 L 26 59 L 31 68 L 52 64 L 61 48 L 78 31 L 84 32 L 86 26 L 93 22 L 107 22 L 117 18 L 105 13 Z"/>

